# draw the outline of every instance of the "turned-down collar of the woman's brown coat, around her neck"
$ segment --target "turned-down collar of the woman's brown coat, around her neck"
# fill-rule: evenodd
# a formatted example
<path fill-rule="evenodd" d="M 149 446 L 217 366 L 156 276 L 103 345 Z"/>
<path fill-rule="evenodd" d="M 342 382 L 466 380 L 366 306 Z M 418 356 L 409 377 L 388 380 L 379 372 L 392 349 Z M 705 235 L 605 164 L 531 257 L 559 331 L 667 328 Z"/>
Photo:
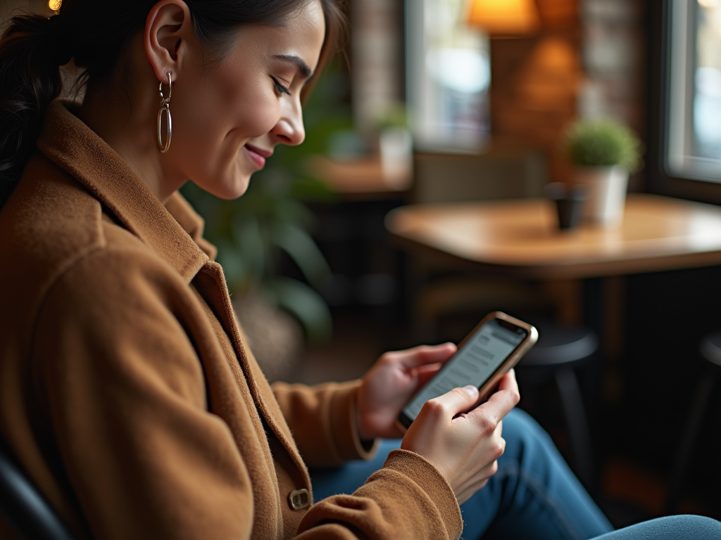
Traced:
<path fill-rule="evenodd" d="M 50 104 L 37 148 L 190 283 L 215 256 L 215 248 L 202 238 L 202 218 L 178 193 L 163 206 L 118 153 L 68 110 L 71 107 L 72 102 L 58 99 Z"/>

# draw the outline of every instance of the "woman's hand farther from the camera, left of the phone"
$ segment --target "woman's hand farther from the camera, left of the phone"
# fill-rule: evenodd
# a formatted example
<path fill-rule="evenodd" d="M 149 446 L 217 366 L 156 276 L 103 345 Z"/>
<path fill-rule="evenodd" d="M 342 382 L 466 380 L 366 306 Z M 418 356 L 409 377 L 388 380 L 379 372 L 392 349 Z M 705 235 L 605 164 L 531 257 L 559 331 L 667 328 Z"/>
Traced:
<path fill-rule="evenodd" d="M 356 420 L 362 440 L 397 438 L 398 413 L 410 398 L 456 352 L 453 343 L 422 345 L 384 354 L 363 377 Z"/>

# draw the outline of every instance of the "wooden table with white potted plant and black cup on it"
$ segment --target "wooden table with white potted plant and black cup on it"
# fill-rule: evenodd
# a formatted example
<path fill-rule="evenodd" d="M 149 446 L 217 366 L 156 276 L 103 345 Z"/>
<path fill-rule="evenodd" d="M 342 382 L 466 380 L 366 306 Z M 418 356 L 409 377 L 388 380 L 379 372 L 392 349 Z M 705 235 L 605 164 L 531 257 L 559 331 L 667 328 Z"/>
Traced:
<path fill-rule="evenodd" d="M 386 228 L 415 253 L 547 282 L 568 323 L 580 320 L 580 279 L 606 277 L 611 356 L 622 339 L 623 282 L 614 276 L 721 264 L 720 207 L 645 194 L 629 195 L 616 229 L 559 231 L 545 199 L 417 204 L 390 212 Z"/>

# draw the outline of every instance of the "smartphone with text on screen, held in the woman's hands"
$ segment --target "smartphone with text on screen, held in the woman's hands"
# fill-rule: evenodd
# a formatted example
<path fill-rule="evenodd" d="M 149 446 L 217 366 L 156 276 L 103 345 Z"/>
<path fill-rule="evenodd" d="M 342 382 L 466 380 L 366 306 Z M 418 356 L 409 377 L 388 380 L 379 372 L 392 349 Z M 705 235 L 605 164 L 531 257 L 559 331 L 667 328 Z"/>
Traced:
<path fill-rule="evenodd" d="M 489 313 L 461 341 L 456 354 L 407 403 L 398 415 L 399 425 L 407 429 L 425 402 L 466 384 L 478 387 L 479 405 L 538 337 L 536 328 L 522 320 L 500 311 Z"/>

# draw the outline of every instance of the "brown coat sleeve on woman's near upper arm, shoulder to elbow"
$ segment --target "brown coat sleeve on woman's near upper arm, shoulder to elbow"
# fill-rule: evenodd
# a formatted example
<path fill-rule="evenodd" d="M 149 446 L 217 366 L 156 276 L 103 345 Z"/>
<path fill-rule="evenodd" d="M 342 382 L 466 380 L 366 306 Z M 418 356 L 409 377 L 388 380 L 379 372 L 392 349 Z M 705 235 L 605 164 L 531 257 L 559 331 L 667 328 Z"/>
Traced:
<path fill-rule="evenodd" d="M 85 256 L 45 296 L 32 369 L 48 454 L 94 538 L 248 539 L 252 486 L 208 412 L 187 284 L 131 255 Z"/>

